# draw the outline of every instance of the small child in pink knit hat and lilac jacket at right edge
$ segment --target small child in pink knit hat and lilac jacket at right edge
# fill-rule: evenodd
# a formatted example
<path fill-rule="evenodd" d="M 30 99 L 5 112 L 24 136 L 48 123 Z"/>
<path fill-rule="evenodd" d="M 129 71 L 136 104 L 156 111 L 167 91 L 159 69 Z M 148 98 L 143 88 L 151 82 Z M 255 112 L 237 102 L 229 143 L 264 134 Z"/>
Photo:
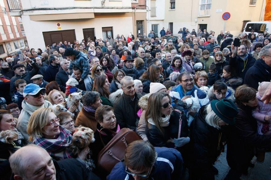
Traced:
<path fill-rule="evenodd" d="M 257 130 L 260 135 L 271 135 L 271 103 L 264 104 L 263 101 L 260 100 L 269 85 L 270 82 L 259 82 L 258 92 L 256 94 L 259 100 L 258 106 L 252 111 L 252 116 L 257 119 Z"/>

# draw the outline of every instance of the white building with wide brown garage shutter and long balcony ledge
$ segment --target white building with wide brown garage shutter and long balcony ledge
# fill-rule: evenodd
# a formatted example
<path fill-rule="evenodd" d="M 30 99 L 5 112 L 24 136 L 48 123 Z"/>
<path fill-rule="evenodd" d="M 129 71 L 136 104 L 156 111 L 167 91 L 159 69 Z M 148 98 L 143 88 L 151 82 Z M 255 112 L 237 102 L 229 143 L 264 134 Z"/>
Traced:
<path fill-rule="evenodd" d="M 142 3 L 141 0 L 29 0 L 21 1 L 22 10 L 12 10 L 12 14 L 21 15 L 29 46 L 45 49 L 58 41 L 73 44 L 74 40 L 82 42 L 89 37 L 95 40 L 108 35 L 116 38 L 117 34 L 127 38 L 130 32 L 136 35 L 137 21 L 146 26 L 146 7 Z"/>

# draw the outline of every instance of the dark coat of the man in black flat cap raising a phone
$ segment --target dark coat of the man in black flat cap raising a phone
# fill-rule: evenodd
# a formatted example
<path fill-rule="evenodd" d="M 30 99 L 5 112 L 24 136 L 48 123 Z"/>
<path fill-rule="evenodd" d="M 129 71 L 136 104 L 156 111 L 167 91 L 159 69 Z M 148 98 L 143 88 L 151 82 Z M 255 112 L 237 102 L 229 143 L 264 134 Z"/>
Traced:
<path fill-rule="evenodd" d="M 33 69 L 31 71 L 26 71 L 22 76 L 19 75 L 15 75 L 10 79 L 10 91 L 9 94 L 10 96 L 14 96 L 13 92 L 16 90 L 15 88 L 15 81 L 17 79 L 23 79 L 26 81 L 26 84 L 29 84 L 31 82 L 31 77 L 35 76 L 38 72 L 39 72 L 39 65 L 34 62 L 31 64 L 33 66 Z"/>

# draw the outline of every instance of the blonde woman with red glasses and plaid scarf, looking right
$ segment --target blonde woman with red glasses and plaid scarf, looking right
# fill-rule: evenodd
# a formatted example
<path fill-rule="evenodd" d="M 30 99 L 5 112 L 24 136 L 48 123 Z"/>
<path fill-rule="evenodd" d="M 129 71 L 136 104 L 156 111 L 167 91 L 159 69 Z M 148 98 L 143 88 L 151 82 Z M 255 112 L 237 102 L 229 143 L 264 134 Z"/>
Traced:
<path fill-rule="evenodd" d="M 45 149 L 55 160 L 72 158 L 73 154 L 68 148 L 72 135 L 59 125 L 59 118 L 51 108 L 40 108 L 30 116 L 27 133 L 29 141 Z M 84 160 L 89 148 L 78 153 L 78 158 Z"/>

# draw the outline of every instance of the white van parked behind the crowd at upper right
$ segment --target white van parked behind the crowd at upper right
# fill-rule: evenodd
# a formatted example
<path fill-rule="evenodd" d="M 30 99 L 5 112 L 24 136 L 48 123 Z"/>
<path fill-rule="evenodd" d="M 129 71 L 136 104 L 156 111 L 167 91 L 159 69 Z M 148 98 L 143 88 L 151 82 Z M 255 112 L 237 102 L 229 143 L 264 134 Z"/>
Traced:
<path fill-rule="evenodd" d="M 271 33 L 271 21 L 256 21 L 256 22 L 247 22 L 243 33 L 247 35 L 254 30 L 256 36 L 260 33 L 263 34 L 264 31 L 267 31 L 268 34 Z"/>

